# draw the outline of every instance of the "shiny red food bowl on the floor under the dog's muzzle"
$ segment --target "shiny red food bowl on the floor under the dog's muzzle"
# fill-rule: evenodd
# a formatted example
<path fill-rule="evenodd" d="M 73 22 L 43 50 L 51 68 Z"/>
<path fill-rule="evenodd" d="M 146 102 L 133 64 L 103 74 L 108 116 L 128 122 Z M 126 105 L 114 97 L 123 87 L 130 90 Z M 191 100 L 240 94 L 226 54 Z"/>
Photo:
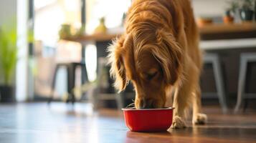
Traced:
<path fill-rule="evenodd" d="M 171 127 L 174 108 L 123 108 L 126 126 L 133 132 L 163 132 Z"/>

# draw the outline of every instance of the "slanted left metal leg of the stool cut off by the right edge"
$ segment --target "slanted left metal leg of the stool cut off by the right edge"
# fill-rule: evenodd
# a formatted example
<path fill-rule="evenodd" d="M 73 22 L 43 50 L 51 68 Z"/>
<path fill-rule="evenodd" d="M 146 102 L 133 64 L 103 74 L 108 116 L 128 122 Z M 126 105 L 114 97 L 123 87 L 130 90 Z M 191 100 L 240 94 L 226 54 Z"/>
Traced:
<path fill-rule="evenodd" d="M 237 113 L 239 111 L 243 101 L 243 94 L 245 91 L 246 71 L 247 71 L 247 59 L 241 58 L 239 79 L 238 79 L 237 104 L 234 108 L 234 113 Z"/>

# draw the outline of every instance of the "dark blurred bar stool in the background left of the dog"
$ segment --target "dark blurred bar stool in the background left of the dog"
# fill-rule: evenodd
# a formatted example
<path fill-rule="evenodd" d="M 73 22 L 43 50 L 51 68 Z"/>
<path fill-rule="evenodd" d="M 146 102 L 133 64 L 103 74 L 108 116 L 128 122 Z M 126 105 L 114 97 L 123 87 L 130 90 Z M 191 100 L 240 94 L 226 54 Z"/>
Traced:
<path fill-rule="evenodd" d="M 54 75 L 52 79 L 52 94 L 51 97 L 49 97 L 48 103 L 52 102 L 53 96 L 54 96 L 54 89 L 55 89 L 55 83 L 57 79 L 57 71 L 61 67 L 65 67 L 67 69 L 67 103 L 72 102 L 72 104 L 75 103 L 75 94 L 72 92 L 72 89 L 75 87 L 75 69 L 77 69 L 77 66 L 80 66 L 82 68 L 82 84 L 87 82 L 87 72 L 86 72 L 86 66 L 85 63 L 80 62 L 70 62 L 70 63 L 58 63 L 54 69 Z"/>

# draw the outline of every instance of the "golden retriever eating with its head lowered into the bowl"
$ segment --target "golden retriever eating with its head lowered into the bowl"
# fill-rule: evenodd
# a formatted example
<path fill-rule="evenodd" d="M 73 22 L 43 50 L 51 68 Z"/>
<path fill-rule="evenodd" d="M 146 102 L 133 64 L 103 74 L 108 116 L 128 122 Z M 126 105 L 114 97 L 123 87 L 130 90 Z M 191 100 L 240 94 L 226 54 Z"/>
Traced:
<path fill-rule="evenodd" d="M 125 33 L 108 51 L 115 87 L 120 92 L 133 83 L 136 109 L 165 107 L 173 90 L 172 128 L 186 127 L 189 107 L 193 124 L 207 121 L 201 113 L 199 31 L 189 0 L 134 0 Z"/>

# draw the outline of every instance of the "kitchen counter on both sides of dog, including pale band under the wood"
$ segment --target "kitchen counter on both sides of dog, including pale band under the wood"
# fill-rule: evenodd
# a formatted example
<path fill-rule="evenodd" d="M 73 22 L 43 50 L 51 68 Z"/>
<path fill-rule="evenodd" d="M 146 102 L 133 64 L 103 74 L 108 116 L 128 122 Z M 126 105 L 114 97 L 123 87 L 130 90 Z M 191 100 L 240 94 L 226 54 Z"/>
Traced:
<path fill-rule="evenodd" d="M 256 23 L 209 24 L 199 27 L 201 49 L 233 49 L 256 47 Z M 68 38 L 87 44 L 88 41 L 111 41 L 119 34 L 91 34 Z"/>

